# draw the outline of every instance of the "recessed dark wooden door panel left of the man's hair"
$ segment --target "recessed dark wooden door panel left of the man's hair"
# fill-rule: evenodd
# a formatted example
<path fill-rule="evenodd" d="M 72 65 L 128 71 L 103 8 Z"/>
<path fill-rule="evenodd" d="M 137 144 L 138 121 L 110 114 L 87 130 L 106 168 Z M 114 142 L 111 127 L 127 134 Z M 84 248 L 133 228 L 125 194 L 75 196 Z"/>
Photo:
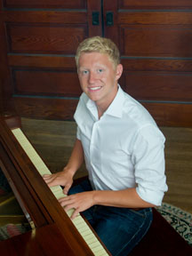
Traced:
<path fill-rule="evenodd" d="M 73 33 L 71 31 L 73 30 Z M 79 42 L 87 35 L 87 28 L 76 25 L 7 26 L 9 52 L 75 54 Z"/>

